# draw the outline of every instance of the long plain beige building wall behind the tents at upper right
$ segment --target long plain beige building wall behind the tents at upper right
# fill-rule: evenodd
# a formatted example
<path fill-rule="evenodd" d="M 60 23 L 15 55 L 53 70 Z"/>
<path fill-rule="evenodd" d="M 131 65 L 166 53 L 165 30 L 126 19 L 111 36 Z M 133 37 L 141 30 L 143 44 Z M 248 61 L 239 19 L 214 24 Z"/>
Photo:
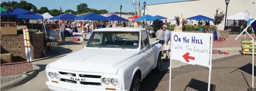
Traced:
<path fill-rule="evenodd" d="M 254 2 L 254 4 L 253 4 Z M 183 14 L 183 18 L 203 15 L 214 19 L 216 9 L 226 12 L 225 0 L 194 0 L 177 3 L 164 3 L 146 6 L 145 14 L 151 16 L 160 15 L 168 19 L 173 19 L 175 16 Z M 256 17 L 256 0 L 230 0 L 227 8 L 227 17 L 247 10 L 251 17 Z M 212 22 L 210 22 L 213 25 Z M 193 22 L 195 24 L 195 21 Z M 224 21 L 218 25 L 219 30 L 224 29 Z"/>

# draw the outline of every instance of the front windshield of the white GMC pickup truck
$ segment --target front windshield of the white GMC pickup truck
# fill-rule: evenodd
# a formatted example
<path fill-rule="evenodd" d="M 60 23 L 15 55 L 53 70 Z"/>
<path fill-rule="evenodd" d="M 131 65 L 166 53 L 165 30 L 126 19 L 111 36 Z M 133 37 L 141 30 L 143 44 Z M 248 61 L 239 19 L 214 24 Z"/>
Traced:
<path fill-rule="evenodd" d="M 139 32 L 93 32 L 86 47 L 137 49 Z"/>

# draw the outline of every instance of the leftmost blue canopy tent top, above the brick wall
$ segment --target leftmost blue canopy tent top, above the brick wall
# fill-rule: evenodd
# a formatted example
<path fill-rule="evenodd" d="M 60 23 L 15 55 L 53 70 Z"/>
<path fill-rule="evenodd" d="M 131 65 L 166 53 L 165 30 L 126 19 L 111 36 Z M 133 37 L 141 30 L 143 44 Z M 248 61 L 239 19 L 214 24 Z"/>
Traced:
<path fill-rule="evenodd" d="M 13 11 L 1 12 L 3 15 L 13 15 L 16 19 L 44 19 L 43 16 L 35 14 L 34 12 L 27 11 L 21 8 L 16 8 Z"/>

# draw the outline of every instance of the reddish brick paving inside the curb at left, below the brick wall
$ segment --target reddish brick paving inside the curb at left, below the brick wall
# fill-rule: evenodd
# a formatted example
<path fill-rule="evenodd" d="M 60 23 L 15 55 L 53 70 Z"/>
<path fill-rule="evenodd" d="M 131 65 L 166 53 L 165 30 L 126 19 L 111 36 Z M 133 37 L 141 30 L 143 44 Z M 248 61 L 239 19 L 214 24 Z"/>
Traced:
<path fill-rule="evenodd" d="M 9 76 L 22 74 L 23 72 L 29 72 L 32 70 L 32 64 L 30 62 L 12 62 L 1 64 L 0 76 Z"/>

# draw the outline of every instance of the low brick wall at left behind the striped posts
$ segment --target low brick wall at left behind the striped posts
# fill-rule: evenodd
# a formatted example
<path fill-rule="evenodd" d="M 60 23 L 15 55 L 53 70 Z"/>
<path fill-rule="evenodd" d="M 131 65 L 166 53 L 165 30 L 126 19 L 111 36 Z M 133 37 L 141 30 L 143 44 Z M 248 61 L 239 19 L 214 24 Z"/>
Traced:
<path fill-rule="evenodd" d="M 24 37 L 20 35 L 1 35 L 1 53 L 12 53 L 13 59 L 26 59 Z M 32 59 L 42 58 L 44 48 L 44 33 L 29 34 Z"/>

